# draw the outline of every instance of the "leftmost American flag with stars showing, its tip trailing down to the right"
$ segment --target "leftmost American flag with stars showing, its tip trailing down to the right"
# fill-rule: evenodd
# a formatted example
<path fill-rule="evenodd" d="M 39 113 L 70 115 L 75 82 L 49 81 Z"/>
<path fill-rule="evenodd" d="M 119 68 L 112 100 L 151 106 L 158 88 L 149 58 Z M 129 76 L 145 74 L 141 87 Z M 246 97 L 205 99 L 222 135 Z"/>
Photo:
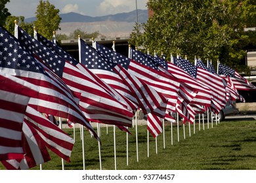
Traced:
<path fill-rule="evenodd" d="M 26 40 L 23 39 L 23 41 Z M 66 85 L 43 67 L 22 43 L 2 27 L 0 28 L 0 44 L 2 49 L 1 71 L 20 77 L 39 87 L 30 100 L 30 107 L 39 112 L 70 118 L 88 127 L 91 126 Z"/>

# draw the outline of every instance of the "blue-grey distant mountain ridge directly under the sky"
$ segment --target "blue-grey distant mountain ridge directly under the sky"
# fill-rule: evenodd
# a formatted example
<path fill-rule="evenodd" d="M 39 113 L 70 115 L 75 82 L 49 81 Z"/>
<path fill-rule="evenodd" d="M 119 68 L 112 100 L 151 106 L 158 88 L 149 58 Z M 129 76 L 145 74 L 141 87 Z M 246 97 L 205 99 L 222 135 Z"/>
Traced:
<path fill-rule="evenodd" d="M 60 23 L 67 22 L 137 22 L 136 10 L 131 12 L 123 12 L 118 14 L 110 14 L 106 16 L 86 16 L 75 12 L 69 12 L 66 14 L 60 14 L 62 21 Z M 33 22 L 36 18 L 26 18 L 25 22 Z M 148 20 L 148 10 L 138 10 L 138 22 L 146 22 Z"/>

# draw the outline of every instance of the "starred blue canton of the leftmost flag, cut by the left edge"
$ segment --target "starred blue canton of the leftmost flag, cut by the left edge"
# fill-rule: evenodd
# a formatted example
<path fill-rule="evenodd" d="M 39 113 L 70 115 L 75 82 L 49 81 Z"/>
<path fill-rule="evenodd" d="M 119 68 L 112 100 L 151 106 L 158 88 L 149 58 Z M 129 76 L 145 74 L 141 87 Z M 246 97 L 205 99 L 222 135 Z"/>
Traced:
<path fill-rule="evenodd" d="M 0 66 L 9 69 L 43 73 L 43 67 L 38 63 L 18 40 L 0 26 Z"/>

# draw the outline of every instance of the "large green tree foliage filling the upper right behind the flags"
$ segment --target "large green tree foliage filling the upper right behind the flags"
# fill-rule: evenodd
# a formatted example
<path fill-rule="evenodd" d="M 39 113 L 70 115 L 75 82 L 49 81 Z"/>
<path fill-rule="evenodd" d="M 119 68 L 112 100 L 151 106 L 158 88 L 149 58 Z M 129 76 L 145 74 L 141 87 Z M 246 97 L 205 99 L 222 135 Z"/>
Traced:
<path fill-rule="evenodd" d="M 149 0 L 154 16 L 137 24 L 130 44 L 158 50 L 165 55 L 179 54 L 194 60 L 217 59 L 236 67 L 245 56 L 245 47 L 256 45 L 253 0 Z"/>

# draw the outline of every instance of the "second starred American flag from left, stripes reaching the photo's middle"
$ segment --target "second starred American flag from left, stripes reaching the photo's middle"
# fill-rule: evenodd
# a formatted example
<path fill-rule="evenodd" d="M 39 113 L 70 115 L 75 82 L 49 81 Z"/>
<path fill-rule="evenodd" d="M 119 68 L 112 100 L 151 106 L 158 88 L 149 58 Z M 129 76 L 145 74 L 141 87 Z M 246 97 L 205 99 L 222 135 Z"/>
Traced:
<path fill-rule="evenodd" d="M 74 92 L 81 93 L 79 107 L 86 118 L 92 122 L 131 126 L 133 112 L 127 110 L 109 92 L 104 90 L 95 75 L 86 68 L 78 68 L 79 63 L 70 63 L 59 54 L 50 50 L 41 42 L 33 39 L 18 27 L 19 39 L 37 56 L 39 61 L 47 65 Z M 81 66 L 81 65 L 80 65 Z M 81 66 L 83 67 L 83 66 Z M 81 71 L 81 69 L 84 69 Z M 72 118 L 68 118 L 76 122 Z M 84 124 L 83 124 L 84 125 Z M 89 123 L 85 125 L 96 135 Z"/>

